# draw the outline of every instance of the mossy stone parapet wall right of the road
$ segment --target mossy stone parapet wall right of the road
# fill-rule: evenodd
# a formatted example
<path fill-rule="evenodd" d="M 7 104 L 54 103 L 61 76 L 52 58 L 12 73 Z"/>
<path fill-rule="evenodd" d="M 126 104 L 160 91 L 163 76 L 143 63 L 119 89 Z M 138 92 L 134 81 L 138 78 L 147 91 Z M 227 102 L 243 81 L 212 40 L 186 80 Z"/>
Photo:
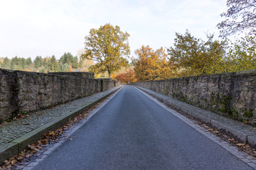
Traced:
<path fill-rule="evenodd" d="M 256 125 L 256 69 L 133 84 Z"/>

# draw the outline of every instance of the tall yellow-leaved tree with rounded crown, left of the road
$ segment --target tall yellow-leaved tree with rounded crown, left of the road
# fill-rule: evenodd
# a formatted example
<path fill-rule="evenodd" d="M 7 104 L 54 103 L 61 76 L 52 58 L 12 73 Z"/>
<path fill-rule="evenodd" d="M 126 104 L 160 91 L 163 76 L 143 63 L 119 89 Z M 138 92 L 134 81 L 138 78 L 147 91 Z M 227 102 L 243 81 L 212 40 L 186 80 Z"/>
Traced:
<path fill-rule="evenodd" d="M 128 67 L 125 59 L 130 52 L 128 37 L 127 32 L 123 33 L 119 26 L 112 26 L 110 23 L 99 29 L 91 29 L 90 35 L 85 36 L 85 54 L 81 55 L 82 59 L 97 62 L 90 67 L 90 72 L 108 72 L 111 77 L 112 72 Z"/>

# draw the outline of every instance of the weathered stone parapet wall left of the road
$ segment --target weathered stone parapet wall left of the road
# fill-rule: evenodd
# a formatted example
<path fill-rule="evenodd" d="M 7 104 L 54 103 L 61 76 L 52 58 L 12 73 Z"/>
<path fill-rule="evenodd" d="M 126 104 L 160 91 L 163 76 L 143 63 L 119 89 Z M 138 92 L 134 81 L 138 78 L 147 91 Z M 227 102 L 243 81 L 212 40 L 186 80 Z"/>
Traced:
<path fill-rule="evenodd" d="M 12 71 L 0 69 L 0 120 L 17 113 L 48 108 L 119 86 L 112 79 L 94 79 L 93 73 Z"/>

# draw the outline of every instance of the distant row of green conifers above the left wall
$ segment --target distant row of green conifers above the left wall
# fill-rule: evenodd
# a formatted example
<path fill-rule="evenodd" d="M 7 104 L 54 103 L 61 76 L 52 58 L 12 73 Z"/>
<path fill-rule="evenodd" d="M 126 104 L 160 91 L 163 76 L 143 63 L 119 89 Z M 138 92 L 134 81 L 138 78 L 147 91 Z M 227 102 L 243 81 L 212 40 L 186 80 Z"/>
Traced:
<path fill-rule="evenodd" d="M 3 69 L 23 70 L 30 72 L 71 72 L 73 69 L 81 67 L 82 62 L 78 61 L 78 57 L 73 57 L 70 52 L 65 52 L 60 60 L 57 61 L 55 56 L 41 57 L 37 56 L 35 60 L 31 57 L 7 57 L 0 58 L 0 67 Z"/>

